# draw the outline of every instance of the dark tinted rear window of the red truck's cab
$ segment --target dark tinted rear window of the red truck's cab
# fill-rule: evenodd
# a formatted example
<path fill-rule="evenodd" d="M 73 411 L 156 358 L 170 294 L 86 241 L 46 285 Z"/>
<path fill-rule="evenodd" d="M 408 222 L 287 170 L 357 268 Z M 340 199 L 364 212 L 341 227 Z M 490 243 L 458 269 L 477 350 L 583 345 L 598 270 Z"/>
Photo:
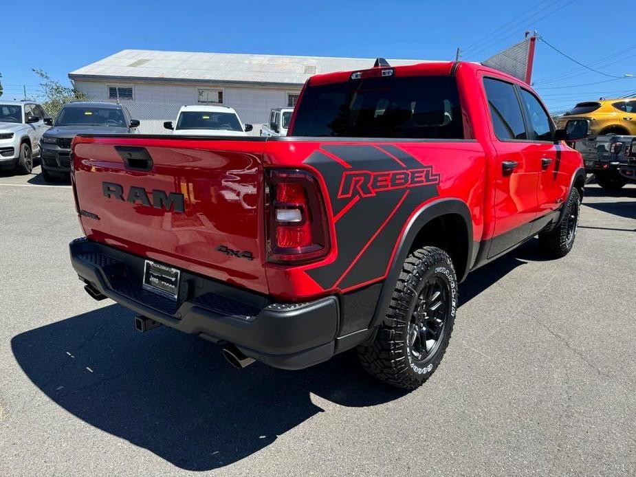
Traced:
<path fill-rule="evenodd" d="M 309 86 L 293 135 L 463 139 L 453 76 L 393 76 Z"/>

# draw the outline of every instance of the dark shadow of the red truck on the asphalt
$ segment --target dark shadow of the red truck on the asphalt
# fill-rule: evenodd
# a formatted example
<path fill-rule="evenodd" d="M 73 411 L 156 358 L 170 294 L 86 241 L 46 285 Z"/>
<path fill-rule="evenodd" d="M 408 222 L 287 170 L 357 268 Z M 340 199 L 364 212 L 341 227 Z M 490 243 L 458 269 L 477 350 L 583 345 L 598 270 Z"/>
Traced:
<path fill-rule="evenodd" d="M 474 271 L 460 286 L 461 301 L 531 260 L 535 247 Z M 267 447 L 323 412 L 315 396 L 358 407 L 406 394 L 367 377 L 352 353 L 302 371 L 259 363 L 236 370 L 198 337 L 163 326 L 138 333 L 132 313 L 117 304 L 21 333 L 11 344 L 24 373 L 69 413 L 193 471 Z"/>

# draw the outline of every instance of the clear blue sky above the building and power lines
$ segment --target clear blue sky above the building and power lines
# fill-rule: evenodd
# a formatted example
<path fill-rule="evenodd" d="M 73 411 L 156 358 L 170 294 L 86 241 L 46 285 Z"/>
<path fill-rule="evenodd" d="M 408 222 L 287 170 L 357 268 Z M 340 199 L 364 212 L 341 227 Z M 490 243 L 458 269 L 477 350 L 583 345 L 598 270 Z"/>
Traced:
<path fill-rule="evenodd" d="M 629 22 L 622 28 L 618 18 L 610 21 L 597 0 L 36 0 L 29 8 L 36 14 L 25 17 L 17 1 L 2 7 L 5 98 L 23 96 L 23 85 L 29 96 L 39 93 L 32 68 L 68 82 L 69 71 L 125 48 L 448 60 L 460 46 L 464 59 L 483 60 L 523 39 L 525 30 L 538 30 L 606 75 L 635 75 L 594 73 L 538 43 L 534 86 L 553 111 L 636 94 Z"/>

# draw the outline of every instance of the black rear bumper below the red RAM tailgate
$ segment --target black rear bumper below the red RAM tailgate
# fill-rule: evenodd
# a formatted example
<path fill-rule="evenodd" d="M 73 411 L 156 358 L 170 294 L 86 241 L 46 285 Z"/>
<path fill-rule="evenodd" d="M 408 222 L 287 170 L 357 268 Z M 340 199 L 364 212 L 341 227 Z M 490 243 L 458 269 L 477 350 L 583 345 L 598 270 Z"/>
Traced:
<path fill-rule="evenodd" d="M 142 288 L 144 258 L 87 239 L 69 245 L 80 280 L 138 315 L 212 342 L 234 344 L 246 356 L 301 369 L 334 354 L 339 322 L 335 296 L 281 304 L 182 270 L 177 301 Z"/>

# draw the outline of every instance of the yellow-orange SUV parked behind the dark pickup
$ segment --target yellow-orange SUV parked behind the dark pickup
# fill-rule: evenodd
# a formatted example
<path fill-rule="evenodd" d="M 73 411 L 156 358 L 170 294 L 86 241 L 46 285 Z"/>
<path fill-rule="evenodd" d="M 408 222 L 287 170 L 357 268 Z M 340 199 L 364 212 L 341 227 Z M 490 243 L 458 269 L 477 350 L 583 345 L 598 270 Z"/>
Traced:
<path fill-rule="evenodd" d="M 559 119 L 559 127 L 572 119 L 590 122 L 592 135 L 636 135 L 636 99 L 580 102 Z"/>

